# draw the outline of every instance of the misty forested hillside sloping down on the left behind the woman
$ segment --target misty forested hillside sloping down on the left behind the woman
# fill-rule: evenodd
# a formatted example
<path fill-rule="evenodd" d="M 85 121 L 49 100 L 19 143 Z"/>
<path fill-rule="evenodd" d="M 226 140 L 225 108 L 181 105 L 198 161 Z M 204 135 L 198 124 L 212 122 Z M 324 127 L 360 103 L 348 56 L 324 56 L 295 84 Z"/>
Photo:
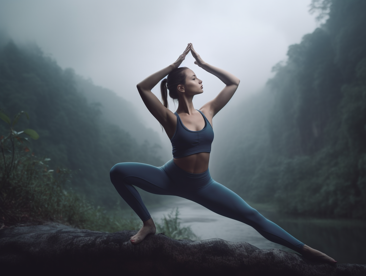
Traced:
<path fill-rule="evenodd" d="M 79 86 L 83 84 L 83 93 L 78 91 L 77 82 Z M 163 165 L 157 139 L 154 138 L 155 144 L 141 143 L 121 128 L 123 125 L 128 128 L 131 117 L 138 118 L 123 99 L 104 91 L 106 99 L 124 104 L 118 120 L 125 123 L 117 125 L 108 118 L 108 110 L 101 111 L 98 104 L 89 104 L 85 97 L 89 90 L 94 99 L 100 99 L 97 92 L 102 88 L 83 83 L 71 69 L 61 69 L 36 45 L 3 44 L 0 88 L 0 108 L 5 114 L 11 118 L 21 110 L 29 114 L 29 121 L 23 118 L 16 130 L 31 128 L 40 135 L 40 139 L 32 141 L 30 150 L 36 156 L 51 158 L 50 169 L 63 166 L 77 172 L 72 187 L 94 201 L 111 206 L 120 199 L 109 180 L 109 170 L 116 163 Z M 108 100 L 103 104 L 112 106 Z M 110 110 L 115 113 L 109 114 L 117 115 L 112 107 Z M 102 112 L 107 114 L 103 116 Z M 143 128 L 137 119 L 132 122 Z M 7 132 L 5 127 L 1 121 L 0 134 Z M 149 135 L 157 137 L 155 133 Z"/>

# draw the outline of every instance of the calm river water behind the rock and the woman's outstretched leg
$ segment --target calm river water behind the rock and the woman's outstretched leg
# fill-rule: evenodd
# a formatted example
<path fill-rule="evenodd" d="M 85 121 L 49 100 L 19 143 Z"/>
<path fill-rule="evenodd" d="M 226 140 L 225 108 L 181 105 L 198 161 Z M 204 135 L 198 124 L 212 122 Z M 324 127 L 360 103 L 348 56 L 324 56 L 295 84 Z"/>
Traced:
<path fill-rule="evenodd" d="M 181 226 L 190 226 L 199 239 L 220 238 L 231 242 L 247 242 L 260 249 L 277 248 L 295 252 L 263 238 L 249 225 L 220 216 L 190 200 L 172 198 L 163 206 L 150 210 L 154 220 L 160 221 L 172 208 L 178 207 Z M 296 239 L 324 252 L 339 263 L 366 264 L 366 222 L 300 219 L 253 207 Z"/>

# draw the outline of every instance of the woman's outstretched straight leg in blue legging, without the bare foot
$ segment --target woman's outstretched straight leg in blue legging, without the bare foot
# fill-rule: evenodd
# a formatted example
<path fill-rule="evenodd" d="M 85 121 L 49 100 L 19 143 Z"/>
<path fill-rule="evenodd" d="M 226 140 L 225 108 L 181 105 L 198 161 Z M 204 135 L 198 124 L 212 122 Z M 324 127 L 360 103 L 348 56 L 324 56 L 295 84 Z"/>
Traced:
<path fill-rule="evenodd" d="M 250 225 L 271 242 L 284 245 L 301 253 L 304 243 L 295 239 L 284 229 L 267 220 L 257 210 L 250 207 L 235 192 L 213 181 L 205 188 L 184 196 L 222 216 Z"/>

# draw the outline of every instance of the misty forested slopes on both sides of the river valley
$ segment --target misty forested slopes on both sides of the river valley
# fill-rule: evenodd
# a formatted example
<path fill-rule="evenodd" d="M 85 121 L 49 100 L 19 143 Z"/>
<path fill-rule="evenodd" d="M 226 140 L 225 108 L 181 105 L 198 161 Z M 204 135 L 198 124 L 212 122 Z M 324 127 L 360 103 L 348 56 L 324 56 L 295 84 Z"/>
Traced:
<path fill-rule="evenodd" d="M 280 212 L 365 220 L 366 2 L 312 3 L 324 20 L 320 27 L 288 48 L 263 91 L 230 114 L 220 112 L 210 171 L 244 200 L 270 203 Z M 14 118 L 26 111 L 29 120 L 19 119 L 16 129 L 40 136 L 20 145 L 19 158 L 46 158 L 53 174 L 70 170 L 65 191 L 107 209 L 120 200 L 109 180 L 115 163 L 163 165 L 158 135 L 130 103 L 62 69 L 35 44 L 0 41 L 1 112 Z M 3 146 L 8 129 L 0 123 Z M 2 179 L 11 154 L 9 148 L 7 161 L 0 161 Z"/>

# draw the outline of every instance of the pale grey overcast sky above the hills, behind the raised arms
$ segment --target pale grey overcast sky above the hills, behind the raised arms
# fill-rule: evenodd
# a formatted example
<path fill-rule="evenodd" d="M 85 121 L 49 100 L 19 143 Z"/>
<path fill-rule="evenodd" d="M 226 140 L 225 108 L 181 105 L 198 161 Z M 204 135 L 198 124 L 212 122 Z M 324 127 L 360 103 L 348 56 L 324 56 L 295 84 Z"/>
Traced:
<path fill-rule="evenodd" d="M 93 1 L 0 0 L 0 28 L 16 41 L 34 41 L 63 67 L 91 78 L 133 102 L 145 123 L 160 125 L 140 99 L 136 84 L 173 63 L 193 43 L 206 62 L 240 78 L 232 101 L 260 90 L 289 45 L 313 32 L 310 0 Z M 194 99 L 200 108 L 223 88 L 194 65 L 203 80 Z M 153 92 L 160 98 L 158 86 Z M 173 104 L 171 104 L 174 108 Z M 164 136 L 165 137 L 165 136 Z"/>

